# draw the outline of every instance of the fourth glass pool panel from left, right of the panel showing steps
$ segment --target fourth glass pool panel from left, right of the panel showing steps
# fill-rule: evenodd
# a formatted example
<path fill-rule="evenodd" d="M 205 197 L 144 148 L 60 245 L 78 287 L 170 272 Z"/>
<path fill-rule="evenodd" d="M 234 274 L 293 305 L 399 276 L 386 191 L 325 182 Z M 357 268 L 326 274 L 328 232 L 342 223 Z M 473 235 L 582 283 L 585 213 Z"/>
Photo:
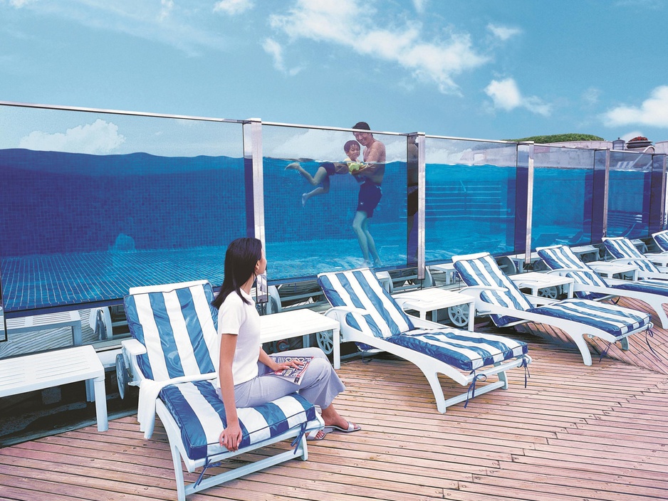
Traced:
<path fill-rule="evenodd" d="M 591 243 L 594 151 L 533 149 L 531 248 Z"/>

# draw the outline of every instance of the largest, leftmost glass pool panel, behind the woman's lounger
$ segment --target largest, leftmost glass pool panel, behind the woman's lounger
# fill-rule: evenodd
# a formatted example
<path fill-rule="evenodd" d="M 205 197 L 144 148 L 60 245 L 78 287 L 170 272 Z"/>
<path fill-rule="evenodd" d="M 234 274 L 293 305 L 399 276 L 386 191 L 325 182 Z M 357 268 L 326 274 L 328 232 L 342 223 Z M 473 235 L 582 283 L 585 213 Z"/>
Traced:
<path fill-rule="evenodd" d="M 246 234 L 241 124 L 0 107 L 6 312 L 209 279 Z"/>

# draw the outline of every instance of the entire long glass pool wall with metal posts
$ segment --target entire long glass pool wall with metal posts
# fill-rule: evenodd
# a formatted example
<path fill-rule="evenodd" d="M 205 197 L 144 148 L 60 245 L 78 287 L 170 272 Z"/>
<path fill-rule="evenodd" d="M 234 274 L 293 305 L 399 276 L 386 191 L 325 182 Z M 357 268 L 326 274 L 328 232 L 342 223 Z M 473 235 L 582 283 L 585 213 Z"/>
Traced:
<path fill-rule="evenodd" d="M 0 103 L 0 130 L 6 317 L 120 304 L 139 285 L 219 286 L 239 236 L 265 242 L 270 284 L 364 265 L 361 178 L 334 174 L 305 197 L 325 186 L 286 169 L 342 162 L 350 129 Z M 386 162 L 364 228 L 380 269 L 666 226 L 665 155 L 373 136 Z"/>

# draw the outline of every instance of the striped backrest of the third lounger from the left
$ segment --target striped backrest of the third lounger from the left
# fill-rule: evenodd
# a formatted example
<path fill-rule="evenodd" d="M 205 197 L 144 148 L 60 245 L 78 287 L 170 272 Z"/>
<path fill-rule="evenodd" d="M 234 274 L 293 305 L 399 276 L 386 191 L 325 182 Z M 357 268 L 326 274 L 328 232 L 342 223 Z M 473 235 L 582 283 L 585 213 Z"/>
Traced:
<path fill-rule="evenodd" d="M 533 306 L 513 280 L 503 275 L 496 264 L 496 260 L 489 253 L 453 256 L 454 268 L 461 276 L 461 280 L 469 286 L 483 285 L 487 287 L 503 288 L 505 290 L 486 290 L 480 297 L 492 305 L 513 308 L 514 310 L 529 310 Z"/>

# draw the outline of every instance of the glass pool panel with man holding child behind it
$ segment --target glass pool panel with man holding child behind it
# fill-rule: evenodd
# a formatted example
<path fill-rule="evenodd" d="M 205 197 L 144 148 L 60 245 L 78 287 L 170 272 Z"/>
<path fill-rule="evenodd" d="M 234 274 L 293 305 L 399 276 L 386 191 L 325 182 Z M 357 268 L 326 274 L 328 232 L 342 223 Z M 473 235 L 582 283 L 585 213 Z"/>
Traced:
<path fill-rule="evenodd" d="M 349 143 L 355 141 L 352 132 L 262 126 L 270 280 L 371 263 L 406 265 L 407 140 L 381 134 L 372 139 L 384 144 L 385 164 L 357 172 L 370 143 L 358 153 L 358 145 Z M 353 145 L 350 157 L 346 144 Z"/>

